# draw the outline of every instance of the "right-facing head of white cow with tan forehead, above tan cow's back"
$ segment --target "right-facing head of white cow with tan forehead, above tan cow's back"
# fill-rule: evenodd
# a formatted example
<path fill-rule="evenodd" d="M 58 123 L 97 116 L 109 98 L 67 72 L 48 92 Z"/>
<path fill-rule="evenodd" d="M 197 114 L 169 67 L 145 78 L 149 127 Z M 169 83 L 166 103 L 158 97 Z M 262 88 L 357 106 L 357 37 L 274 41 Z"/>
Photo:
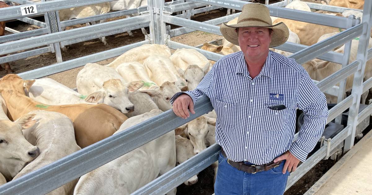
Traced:
<path fill-rule="evenodd" d="M 103 82 L 102 88 L 85 98 L 89 103 L 104 103 L 126 114 L 134 110 L 128 99 L 128 92 L 137 91 L 143 86 L 141 81 L 123 84 L 120 79 L 109 79 Z"/>

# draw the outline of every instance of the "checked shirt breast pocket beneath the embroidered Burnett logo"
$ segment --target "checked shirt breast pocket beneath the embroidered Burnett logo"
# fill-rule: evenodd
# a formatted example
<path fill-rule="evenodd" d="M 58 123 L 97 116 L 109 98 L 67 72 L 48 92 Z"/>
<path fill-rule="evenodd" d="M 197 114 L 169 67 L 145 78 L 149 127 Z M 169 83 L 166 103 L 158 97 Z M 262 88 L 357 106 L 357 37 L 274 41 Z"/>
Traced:
<path fill-rule="evenodd" d="M 272 105 L 266 105 L 264 108 L 265 118 L 267 120 L 266 130 L 282 130 L 288 108 L 283 110 L 272 110 L 269 108 L 271 106 Z"/>

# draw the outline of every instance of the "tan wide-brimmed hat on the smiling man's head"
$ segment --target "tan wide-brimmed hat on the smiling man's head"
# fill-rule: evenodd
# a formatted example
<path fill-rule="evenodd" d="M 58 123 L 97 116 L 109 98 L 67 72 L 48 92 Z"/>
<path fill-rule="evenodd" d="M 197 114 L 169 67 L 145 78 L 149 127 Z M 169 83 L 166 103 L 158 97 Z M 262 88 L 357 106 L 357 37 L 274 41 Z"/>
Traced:
<path fill-rule="evenodd" d="M 283 22 L 273 25 L 269 9 L 261 3 L 245 4 L 238 17 L 237 24 L 227 25 L 227 23 L 223 23 L 219 30 L 226 40 L 232 44 L 239 45 L 238 33 L 235 31 L 239 27 L 265 27 L 272 29 L 270 48 L 282 45 L 289 36 L 288 27 Z"/>

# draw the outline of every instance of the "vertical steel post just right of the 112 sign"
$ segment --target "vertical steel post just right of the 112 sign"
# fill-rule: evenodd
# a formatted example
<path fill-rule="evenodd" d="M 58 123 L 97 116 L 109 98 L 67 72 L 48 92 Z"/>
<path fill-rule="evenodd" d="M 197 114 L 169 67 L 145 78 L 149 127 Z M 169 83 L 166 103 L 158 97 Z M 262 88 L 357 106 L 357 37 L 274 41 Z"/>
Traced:
<path fill-rule="evenodd" d="M 51 0 L 42 0 L 44 1 L 51 1 Z M 48 33 L 55 33 L 59 32 L 58 30 L 58 24 L 60 19 L 58 17 L 58 14 L 56 12 L 48 12 L 44 14 L 45 17 L 45 24 L 47 25 L 48 28 Z M 60 43 L 53 43 L 49 45 L 52 48 L 52 52 L 55 52 L 55 57 L 57 58 L 57 63 L 62 62 L 62 54 L 61 54 L 61 48 L 60 48 Z"/>

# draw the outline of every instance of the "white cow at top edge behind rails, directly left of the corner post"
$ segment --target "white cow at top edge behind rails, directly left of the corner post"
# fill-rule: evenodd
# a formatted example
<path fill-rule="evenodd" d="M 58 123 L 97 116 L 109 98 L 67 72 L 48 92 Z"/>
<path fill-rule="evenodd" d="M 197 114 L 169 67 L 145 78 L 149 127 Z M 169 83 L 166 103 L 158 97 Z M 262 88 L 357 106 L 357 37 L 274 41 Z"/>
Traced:
<path fill-rule="evenodd" d="M 147 0 L 118 0 L 118 1 L 110 1 L 110 6 L 112 11 L 121 11 L 121 10 L 129 10 L 134 9 L 140 6 L 147 6 Z M 127 17 L 131 16 L 138 16 L 138 14 L 131 14 Z M 142 33 L 147 35 L 145 28 L 141 28 Z M 134 36 L 133 33 L 129 30 L 127 31 L 129 36 Z"/>

